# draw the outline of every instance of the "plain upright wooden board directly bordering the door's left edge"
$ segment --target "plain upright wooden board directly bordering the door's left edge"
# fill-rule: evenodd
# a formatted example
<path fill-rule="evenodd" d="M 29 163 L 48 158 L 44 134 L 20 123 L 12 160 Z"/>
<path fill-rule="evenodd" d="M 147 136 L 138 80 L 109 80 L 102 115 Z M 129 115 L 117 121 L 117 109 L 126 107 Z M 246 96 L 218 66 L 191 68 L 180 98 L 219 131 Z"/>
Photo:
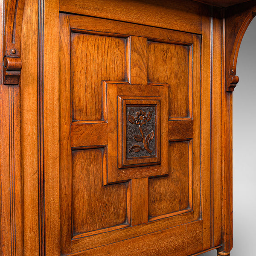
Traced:
<path fill-rule="evenodd" d="M 43 127 L 43 166 L 44 176 L 41 182 L 44 184 L 44 198 L 41 211 L 45 222 L 42 222 L 44 230 L 45 255 L 58 255 L 60 253 L 60 202 L 59 202 L 59 78 L 58 58 L 59 49 L 59 3 L 56 0 L 43 3 L 42 15 L 47 17 L 42 20 L 44 49 L 43 62 L 39 68 L 43 74 L 43 114 L 41 125 Z M 42 49 L 41 48 L 41 49 Z M 54 171 L 53 171 L 54 170 Z"/>

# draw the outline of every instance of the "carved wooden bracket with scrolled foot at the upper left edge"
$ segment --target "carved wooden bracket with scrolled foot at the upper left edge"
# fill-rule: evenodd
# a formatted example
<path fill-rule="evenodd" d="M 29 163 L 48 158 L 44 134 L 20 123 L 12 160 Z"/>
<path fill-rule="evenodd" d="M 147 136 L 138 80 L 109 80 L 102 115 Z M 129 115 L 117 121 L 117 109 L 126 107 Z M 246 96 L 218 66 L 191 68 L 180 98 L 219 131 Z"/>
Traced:
<path fill-rule="evenodd" d="M 20 59 L 21 28 L 25 0 L 6 0 L 3 38 L 3 84 L 19 84 L 22 61 Z"/>

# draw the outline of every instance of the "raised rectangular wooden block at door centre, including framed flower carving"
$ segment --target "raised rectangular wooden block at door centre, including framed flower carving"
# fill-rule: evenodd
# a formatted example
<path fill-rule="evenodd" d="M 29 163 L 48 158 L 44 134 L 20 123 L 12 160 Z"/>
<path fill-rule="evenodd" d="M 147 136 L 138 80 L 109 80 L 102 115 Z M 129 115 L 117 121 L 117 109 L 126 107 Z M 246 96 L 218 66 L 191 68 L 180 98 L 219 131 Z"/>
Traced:
<path fill-rule="evenodd" d="M 167 175 L 168 84 L 104 82 L 104 184 Z"/>

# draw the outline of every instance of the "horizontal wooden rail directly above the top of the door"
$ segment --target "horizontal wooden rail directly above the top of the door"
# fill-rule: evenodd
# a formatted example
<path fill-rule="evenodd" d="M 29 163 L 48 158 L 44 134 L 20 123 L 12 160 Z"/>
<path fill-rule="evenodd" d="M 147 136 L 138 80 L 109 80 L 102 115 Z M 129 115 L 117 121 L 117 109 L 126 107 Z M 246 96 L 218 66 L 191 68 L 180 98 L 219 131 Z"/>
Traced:
<path fill-rule="evenodd" d="M 66 0 L 60 1 L 60 11 L 131 23 L 140 23 L 167 29 L 201 33 L 201 4 L 189 0 L 159 1 L 154 0 Z M 114 8 L 113 8 L 114 7 Z M 134 10 L 136 10 L 134 12 Z M 170 15 L 170 11 L 173 15 Z"/>

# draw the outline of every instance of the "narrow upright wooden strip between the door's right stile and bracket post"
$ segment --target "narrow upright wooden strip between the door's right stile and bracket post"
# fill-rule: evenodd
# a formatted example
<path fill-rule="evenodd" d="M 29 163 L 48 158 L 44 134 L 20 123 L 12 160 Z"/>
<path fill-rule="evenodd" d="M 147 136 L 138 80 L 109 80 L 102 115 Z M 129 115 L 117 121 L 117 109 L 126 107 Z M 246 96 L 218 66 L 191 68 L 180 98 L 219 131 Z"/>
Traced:
<path fill-rule="evenodd" d="M 212 246 L 221 244 L 222 189 L 222 21 L 212 19 Z M 224 74 L 224 70 L 222 71 Z M 224 84 L 224 83 L 223 83 Z M 224 86 L 223 86 L 224 87 Z"/>

